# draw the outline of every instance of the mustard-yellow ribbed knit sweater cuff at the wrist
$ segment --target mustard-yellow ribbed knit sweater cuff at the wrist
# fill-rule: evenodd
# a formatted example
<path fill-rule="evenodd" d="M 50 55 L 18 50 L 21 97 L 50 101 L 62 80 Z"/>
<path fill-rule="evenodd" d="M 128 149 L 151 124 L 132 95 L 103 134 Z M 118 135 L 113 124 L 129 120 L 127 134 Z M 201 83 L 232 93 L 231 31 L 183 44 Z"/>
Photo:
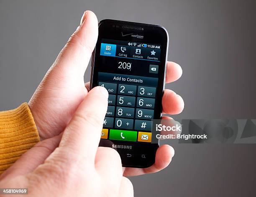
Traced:
<path fill-rule="evenodd" d="M 40 141 L 27 103 L 0 112 L 0 174 Z"/>

